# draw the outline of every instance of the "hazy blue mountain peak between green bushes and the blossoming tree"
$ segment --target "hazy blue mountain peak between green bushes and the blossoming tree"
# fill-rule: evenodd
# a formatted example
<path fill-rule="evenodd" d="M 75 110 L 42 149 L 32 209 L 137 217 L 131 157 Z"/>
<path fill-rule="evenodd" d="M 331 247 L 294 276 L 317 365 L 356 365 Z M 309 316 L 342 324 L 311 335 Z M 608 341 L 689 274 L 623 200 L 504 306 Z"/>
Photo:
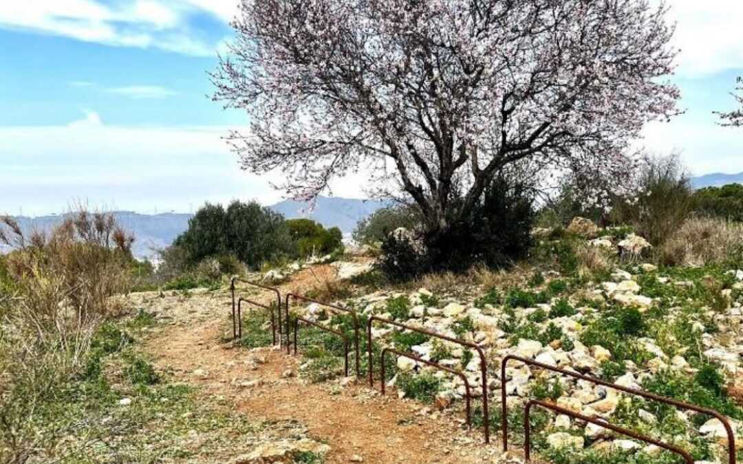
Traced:
<path fill-rule="evenodd" d="M 388 203 L 379 200 L 358 200 L 355 198 L 319 197 L 314 209 L 302 201 L 284 200 L 269 206 L 287 219 L 308 218 L 325 227 L 338 227 L 344 234 L 354 230 L 359 220 L 366 218 Z"/>

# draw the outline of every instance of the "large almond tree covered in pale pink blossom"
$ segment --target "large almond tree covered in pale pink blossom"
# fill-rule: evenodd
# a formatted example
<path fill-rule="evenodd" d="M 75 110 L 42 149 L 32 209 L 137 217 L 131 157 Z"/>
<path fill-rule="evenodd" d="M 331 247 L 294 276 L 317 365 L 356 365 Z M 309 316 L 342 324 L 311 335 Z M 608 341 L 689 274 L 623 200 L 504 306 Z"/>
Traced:
<path fill-rule="evenodd" d="M 530 176 L 569 172 L 600 203 L 606 186 L 629 183 L 629 141 L 643 124 L 678 113 L 666 10 L 647 0 L 243 0 L 213 98 L 250 118 L 249 132 L 228 137 L 244 169 L 282 170 L 296 198 L 381 169 L 429 232 L 445 233 L 521 165 Z"/>

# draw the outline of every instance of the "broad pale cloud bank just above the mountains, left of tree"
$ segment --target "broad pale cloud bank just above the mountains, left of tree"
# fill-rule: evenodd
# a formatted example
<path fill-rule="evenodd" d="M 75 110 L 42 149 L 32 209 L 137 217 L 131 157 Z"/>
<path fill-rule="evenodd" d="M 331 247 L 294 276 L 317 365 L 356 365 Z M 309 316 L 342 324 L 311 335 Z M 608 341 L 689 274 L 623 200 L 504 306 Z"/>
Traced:
<path fill-rule="evenodd" d="M 281 200 L 271 183 L 284 175 L 241 171 L 222 140 L 229 129 L 106 125 L 91 110 L 66 125 L 0 126 L 0 214 L 65 211 L 76 199 L 140 212 Z M 363 173 L 338 180 L 333 192 L 365 197 L 364 180 Z"/>

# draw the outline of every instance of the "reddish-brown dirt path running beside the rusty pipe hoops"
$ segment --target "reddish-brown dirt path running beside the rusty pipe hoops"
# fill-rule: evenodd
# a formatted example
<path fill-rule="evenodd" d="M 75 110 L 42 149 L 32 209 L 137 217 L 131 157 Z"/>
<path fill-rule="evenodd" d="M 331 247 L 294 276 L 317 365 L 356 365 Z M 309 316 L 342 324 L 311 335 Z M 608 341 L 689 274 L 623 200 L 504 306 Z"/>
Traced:
<path fill-rule="evenodd" d="M 282 294 L 313 287 L 317 275 L 318 269 L 299 272 L 281 286 Z M 271 294 L 253 298 L 270 301 Z M 296 376 L 301 356 L 224 342 L 231 324 L 214 315 L 229 314 L 229 293 L 145 301 L 172 321 L 147 342 L 160 368 L 250 416 L 302 422 L 311 436 L 331 446 L 328 463 L 359 457 L 364 463 L 481 463 L 500 454 L 498 445 L 482 444 L 481 431 L 464 430 L 462 414 L 455 411 L 421 414 L 424 405 L 381 396 L 363 382 L 308 384 Z"/>

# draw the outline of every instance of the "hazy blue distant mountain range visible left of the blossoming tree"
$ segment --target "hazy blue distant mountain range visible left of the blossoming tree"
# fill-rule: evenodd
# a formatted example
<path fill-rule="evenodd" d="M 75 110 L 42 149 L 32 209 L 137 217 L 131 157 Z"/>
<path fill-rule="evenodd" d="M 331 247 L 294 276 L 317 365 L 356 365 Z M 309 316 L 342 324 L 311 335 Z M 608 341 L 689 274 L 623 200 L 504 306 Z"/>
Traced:
<path fill-rule="evenodd" d="M 287 219 L 308 218 L 316 220 L 325 227 L 338 227 L 345 235 L 354 229 L 359 220 L 385 205 L 386 203 L 376 200 L 319 197 L 314 209 L 311 210 L 308 203 L 291 200 L 276 203 L 269 208 L 282 213 Z M 136 212 L 116 211 L 113 214 L 117 223 L 134 234 L 136 240 L 132 246 L 132 252 L 139 258 L 152 256 L 154 249 L 172 244 L 178 235 L 188 229 L 188 221 L 193 217 L 187 213 L 141 215 Z M 15 219 L 22 230 L 29 232 L 50 230 L 56 224 L 61 223 L 64 218 L 65 215 L 49 215 L 38 218 L 18 216 Z M 0 246 L 0 253 L 2 252 L 10 252 L 10 249 Z"/>

